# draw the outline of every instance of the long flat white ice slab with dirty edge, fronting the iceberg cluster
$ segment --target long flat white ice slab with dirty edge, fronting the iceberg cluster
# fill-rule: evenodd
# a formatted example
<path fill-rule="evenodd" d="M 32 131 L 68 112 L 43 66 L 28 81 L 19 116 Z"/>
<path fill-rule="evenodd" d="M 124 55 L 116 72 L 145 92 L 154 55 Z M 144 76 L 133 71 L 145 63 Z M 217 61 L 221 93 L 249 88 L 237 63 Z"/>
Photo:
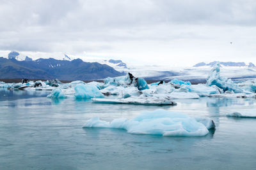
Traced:
<path fill-rule="evenodd" d="M 125 99 L 92 99 L 93 103 L 107 103 L 107 104 L 140 104 L 140 105 L 176 105 L 168 97 L 128 97 Z"/>

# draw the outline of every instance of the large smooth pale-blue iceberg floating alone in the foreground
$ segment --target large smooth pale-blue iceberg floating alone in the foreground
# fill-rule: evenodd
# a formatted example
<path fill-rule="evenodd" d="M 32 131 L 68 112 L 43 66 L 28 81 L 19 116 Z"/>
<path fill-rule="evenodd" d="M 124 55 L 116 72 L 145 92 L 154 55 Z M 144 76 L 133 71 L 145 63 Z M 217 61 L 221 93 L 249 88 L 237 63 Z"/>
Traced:
<path fill-rule="evenodd" d="M 209 132 L 207 127 L 195 118 L 166 110 L 145 111 L 131 120 L 118 118 L 112 122 L 95 117 L 88 120 L 84 127 L 117 128 L 125 129 L 131 134 L 161 136 L 205 136 Z"/>

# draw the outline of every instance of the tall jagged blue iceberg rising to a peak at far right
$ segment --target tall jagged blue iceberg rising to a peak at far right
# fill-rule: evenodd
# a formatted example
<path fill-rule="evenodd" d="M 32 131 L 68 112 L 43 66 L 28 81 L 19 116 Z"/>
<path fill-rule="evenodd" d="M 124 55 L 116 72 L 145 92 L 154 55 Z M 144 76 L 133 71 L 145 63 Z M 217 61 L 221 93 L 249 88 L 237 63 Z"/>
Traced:
<path fill-rule="evenodd" d="M 209 76 L 207 78 L 206 85 L 212 86 L 216 85 L 223 89 L 224 91 L 234 91 L 235 93 L 243 92 L 243 89 L 238 87 L 231 79 L 220 76 L 220 62 L 217 62 L 212 68 Z"/>

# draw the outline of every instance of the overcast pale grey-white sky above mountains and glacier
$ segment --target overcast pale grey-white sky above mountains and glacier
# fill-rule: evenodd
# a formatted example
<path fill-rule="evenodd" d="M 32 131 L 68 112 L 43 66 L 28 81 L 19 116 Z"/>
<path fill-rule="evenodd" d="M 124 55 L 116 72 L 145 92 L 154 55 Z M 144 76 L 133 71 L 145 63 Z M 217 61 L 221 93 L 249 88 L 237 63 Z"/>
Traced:
<path fill-rule="evenodd" d="M 256 64 L 255 0 L 0 0 L 0 23 L 0 54 L 67 53 L 136 65 Z"/>

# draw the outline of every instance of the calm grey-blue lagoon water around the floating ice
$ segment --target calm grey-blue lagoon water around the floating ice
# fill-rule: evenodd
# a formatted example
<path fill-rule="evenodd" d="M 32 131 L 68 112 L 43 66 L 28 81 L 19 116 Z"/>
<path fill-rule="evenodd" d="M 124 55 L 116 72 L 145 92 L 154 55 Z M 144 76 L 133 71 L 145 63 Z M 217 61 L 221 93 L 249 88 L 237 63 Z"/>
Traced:
<path fill-rule="evenodd" d="M 226 117 L 256 110 L 256 99 L 175 100 L 177 106 L 52 100 L 44 91 L 0 90 L 0 169 L 256 169 L 256 119 Z M 100 117 L 133 118 L 158 108 L 210 117 L 202 137 L 129 134 L 82 128 Z"/>

